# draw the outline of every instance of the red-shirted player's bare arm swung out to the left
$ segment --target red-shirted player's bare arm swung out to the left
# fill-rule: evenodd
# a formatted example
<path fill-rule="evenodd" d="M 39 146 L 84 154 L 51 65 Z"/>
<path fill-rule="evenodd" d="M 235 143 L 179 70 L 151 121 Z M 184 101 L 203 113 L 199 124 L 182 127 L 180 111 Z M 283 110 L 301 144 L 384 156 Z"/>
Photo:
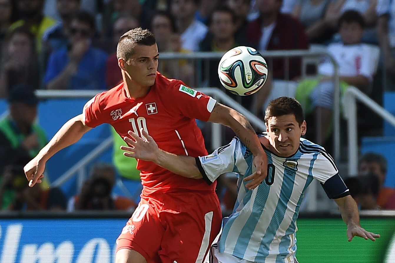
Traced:
<path fill-rule="evenodd" d="M 90 129 L 90 127 L 85 125 L 82 114 L 67 121 L 48 144 L 41 149 L 38 155 L 23 168 L 29 181 L 29 186 L 32 187 L 36 183 L 41 183 L 41 178 L 44 176 L 45 163 L 49 158 L 61 149 L 77 142 Z"/>

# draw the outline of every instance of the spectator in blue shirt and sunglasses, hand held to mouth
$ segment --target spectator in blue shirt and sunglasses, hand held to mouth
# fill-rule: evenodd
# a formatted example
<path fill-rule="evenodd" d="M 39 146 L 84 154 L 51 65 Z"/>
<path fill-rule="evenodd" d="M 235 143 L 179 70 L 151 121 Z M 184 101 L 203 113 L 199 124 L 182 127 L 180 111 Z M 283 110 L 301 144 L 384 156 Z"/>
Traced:
<path fill-rule="evenodd" d="M 70 21 L 69 44 L 49 56 L 44 85 L 47 89 L 106 89 L 108 55 L 92 46 L 94 17 L 78 11 Z"/>

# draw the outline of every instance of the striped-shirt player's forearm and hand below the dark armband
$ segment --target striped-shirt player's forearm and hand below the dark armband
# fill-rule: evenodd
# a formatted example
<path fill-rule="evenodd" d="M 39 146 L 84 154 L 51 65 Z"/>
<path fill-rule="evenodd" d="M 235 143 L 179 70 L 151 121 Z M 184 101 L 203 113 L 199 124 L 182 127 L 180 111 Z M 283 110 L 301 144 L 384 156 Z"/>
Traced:
<path fill-rule="evenodd" d="M 380 237 L 380 235 L 368 232 L 361 227 L 359 223 L 357 203 L 351 197 L 351 195 L 335 199 L 335 202 L 339 206 L 340 214 L 342 215 L 343 221 L 347 225 L 348 241 L 351 241 L 355 236 L 373 241 Z"/>

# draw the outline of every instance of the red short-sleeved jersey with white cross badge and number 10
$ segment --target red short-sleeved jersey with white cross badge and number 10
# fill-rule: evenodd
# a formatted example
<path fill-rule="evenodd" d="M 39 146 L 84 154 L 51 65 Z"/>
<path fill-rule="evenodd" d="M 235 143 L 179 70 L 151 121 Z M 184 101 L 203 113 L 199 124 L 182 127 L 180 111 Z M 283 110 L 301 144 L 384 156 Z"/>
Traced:
<path fill-rule="evenodd" d="M 124 84 L 100 93 L 84 107 L 85 124 L 96 127 L 111 124 L 124 138 L 128 131 L 141 136 L 143 128 L 160 149 L 177 155 L 207 155 L 203 135 L 195 119 L 207 121 L 216 100 L 190 89 L 180 80 L 167 79 L 159 72 L 149 93 L 137 99 L 126 97 Z M 203 179 L 185 178 L 153 162 L 137 160 L 143 194 L 154 191 L 207 191 L 215 189 Z"/>

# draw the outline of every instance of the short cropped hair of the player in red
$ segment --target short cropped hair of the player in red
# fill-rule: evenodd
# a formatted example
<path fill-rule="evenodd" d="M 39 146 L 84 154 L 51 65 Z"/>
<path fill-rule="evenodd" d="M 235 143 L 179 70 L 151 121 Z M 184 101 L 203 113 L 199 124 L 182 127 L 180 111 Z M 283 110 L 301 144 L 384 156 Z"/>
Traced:
<path fill-rule="evenodd" d="M 117 58 L 127 61 L 133 55 L 136 44 L 154 45 L 155 43 L 155 37 L 150 30 L 141 27 L 133 28 L 119 38 Z"/>

